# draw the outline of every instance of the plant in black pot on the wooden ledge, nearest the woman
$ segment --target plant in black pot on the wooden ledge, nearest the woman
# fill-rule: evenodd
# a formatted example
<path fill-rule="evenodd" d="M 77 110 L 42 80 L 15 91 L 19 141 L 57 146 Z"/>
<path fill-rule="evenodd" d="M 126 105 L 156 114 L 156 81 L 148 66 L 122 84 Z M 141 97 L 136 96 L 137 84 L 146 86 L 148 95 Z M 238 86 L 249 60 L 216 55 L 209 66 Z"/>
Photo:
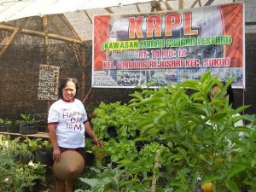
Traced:
<path fill-rule="evenodd" d="M 22 117 L 22 120 L 20 120 L 20 134 L 30 135 L 38 133 L 38 123 L 31 114 L 21 113 L 20 116 Z"/>

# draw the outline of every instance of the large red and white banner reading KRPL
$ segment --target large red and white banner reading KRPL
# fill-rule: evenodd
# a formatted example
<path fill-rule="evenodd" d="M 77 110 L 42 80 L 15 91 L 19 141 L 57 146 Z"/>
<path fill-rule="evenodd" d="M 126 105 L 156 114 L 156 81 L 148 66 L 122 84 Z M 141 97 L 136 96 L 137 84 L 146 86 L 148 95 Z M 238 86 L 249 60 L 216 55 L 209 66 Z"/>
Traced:
<path fill-rule="evenodd" d="M 243 3 L 94 16 L 92 87 L 172 85 L 212 71 L 245 87 Z"/>

